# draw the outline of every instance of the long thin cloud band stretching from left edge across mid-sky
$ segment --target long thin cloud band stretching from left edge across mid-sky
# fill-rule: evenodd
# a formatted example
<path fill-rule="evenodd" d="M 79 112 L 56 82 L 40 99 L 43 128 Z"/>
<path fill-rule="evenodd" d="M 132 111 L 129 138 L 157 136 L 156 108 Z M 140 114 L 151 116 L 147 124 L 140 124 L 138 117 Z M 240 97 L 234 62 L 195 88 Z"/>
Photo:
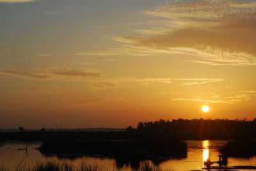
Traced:
<path fill-rule="evenodd" d="M 223 78 L 147 78 L 147 77 L 120 77 L 115 75 L 101 75 L 88 70 L 77 70 L 72 68 L 38 68 L 33 71 L 0 70 L 1 75 L 27 78 L 30 80 L 76 80 L 86 82 L 89 87 L 105 89 L 109 87 L 131 87 L 141 85 L 154 87 L 170 85 L 202 85 L 211 82 L 224 81 Z"/>

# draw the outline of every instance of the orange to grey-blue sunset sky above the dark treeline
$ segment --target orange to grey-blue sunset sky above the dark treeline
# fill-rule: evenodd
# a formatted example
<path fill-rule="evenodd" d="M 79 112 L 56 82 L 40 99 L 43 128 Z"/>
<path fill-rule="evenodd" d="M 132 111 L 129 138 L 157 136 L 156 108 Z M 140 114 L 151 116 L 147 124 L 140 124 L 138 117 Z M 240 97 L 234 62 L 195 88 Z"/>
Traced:
<path fill-rule="evenodd" d="M 256 1 L 0 0 L 0 24 L 0 128 L 255 118 Z"/>

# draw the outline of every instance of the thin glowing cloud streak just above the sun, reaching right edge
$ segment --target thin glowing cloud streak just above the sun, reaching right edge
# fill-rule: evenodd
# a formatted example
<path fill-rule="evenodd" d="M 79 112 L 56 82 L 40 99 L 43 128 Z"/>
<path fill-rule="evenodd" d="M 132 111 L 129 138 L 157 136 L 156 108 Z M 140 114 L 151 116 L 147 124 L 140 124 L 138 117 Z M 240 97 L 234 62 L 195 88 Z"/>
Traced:
<path fill-rule="evenodd" d="M 256 91 L 238 91 L 234 96 L 220 96 L 214 94 L 209 97 L 195 96 L 194 98 L 175 98 L 173 101 L 197 101 L 207 103 L 239 103 L 256 97 Z"/>

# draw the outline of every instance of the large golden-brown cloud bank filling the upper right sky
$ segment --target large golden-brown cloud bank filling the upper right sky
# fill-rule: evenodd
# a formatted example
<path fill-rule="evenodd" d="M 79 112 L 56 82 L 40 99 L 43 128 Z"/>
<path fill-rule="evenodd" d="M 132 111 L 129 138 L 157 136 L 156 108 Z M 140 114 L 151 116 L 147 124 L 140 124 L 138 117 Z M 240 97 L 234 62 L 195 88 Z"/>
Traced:
<path fill-rule="evenodd" d="M 115 37 L 125 48 L 81 52 L 77 55 L 143 56 L 174 53 L 198 56 L 197 63 L 215 66 L 256 65 L 255 1 L 177 0 L 143 13 L 162 17 L 163 20 L 148 22 L 157 23 L 157 28 L 136 30 L 142 33 L 141 36 Z M 162 24 L 164 27 L 161 27 Z"/>

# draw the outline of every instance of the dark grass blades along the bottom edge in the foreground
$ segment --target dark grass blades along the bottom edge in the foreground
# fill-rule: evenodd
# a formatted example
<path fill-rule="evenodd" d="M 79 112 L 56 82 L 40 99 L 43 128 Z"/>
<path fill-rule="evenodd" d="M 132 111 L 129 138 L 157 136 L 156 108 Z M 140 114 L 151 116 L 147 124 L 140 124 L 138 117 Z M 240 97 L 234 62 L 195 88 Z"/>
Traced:
<path fill-rule="evenodd" d="M 45 161 L 42 163 L 36 163 L 35 165 L 19 164 L 13 170 L 8 170 L 3 166 L 0 166 L 0 171 L 112 171 L 104 165 L 93 163 L 87 160 L 82 160 L 78 166 L 72 165 L 72 163 Z M 143 161 L 140 164 L 138 171 L 162 171 L 160 167 L 151 165 L 148 161 Z"/>

